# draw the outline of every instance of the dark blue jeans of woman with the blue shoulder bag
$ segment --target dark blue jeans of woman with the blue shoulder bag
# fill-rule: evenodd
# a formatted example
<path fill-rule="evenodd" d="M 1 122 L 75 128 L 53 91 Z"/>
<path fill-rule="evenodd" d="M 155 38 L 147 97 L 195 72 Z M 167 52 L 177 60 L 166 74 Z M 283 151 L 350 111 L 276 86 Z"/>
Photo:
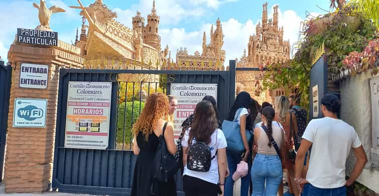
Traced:
<path fill-rule="evenodd" d="M 251 156 L 251 155 L 250 155 Z M 249 160 L 251 161 L 249 156 Z M 229 166 L 229 171 L 230 175 L 226 178 L 225 181 L 225 186 L 224 186 L 224 195 L 225 196 L 233 196 L 233 173 L 237 169 L 237 164 L 241 162 L 241 154 L 233 153 L 233 152 L 226 152 L 226 157 L 228 159 L 228 166 Z M 249 168 L 249 173 L 245 177 L 241 177 L 241 196 L 247 196 L 249 193 L 249 185 L 250 185 L 250 168 Z"/>

